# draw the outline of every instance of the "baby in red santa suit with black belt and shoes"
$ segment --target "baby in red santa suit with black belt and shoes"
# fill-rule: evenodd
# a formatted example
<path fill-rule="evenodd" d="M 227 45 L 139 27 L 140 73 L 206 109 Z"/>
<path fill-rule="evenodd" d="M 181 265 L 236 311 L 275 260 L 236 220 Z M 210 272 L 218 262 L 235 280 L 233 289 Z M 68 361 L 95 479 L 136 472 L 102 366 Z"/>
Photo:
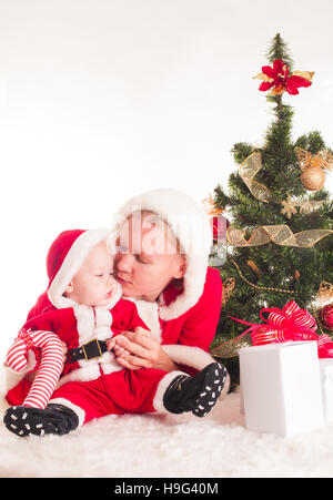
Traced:
<path fill-rule="evenodd" d="M 59 381 L 58 375 L 51 380 L 51 387 L 58 388 L 43 405 L 39 401 L 46 384 L 33 382 L 31 387 L 27 370 L 7 392 L 12 407 L 3 420 L 20 437 L 64 435 L 105 415 L 153 412 L 161 406 L 164 412 L 192 411 L 202 417 L 221 395 L 225 368 L 218 363 L 192 377 L 154 368 L 129 370 L 118 364 L 112 353 L 117 336 L 124 330 L 147 335 L 148 328 L 137 306 L 121 298 L 121 286 L 113 278 L 113 257 L 105 244 L 108 235 L 108 229 L 67 231 L 48 253 L 48 296 L 52 306 L 26 323 L 7 359 L 14 368 L 18 356 L 27 363 L 29 350 L 39 357 L 40 338 L 50 334 L 57 334 L 67 345 L 68 356 Z M 24 348 L 13 363 L 11 354 L 18 353 L 18 344 Z M 204 391 L 209 384 L 216 388 L 210 401 Z M 27 405 L 32 388 L 37 397 L 34 401 L 28 399 Z"/>

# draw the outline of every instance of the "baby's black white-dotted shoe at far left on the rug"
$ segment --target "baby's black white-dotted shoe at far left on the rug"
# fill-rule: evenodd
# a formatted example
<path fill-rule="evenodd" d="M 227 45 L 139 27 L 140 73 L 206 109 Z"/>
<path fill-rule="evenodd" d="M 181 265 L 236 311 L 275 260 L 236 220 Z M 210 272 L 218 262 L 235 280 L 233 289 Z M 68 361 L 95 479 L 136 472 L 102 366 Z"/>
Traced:
<path fill-rule="evenodd" d="M 74 430 L 79 417 L 63 405 L 50 404 L 46 409 L 13 406 L 4 414 L 3 422 L 8 430 L 20 437 L 64 435 Z"/>

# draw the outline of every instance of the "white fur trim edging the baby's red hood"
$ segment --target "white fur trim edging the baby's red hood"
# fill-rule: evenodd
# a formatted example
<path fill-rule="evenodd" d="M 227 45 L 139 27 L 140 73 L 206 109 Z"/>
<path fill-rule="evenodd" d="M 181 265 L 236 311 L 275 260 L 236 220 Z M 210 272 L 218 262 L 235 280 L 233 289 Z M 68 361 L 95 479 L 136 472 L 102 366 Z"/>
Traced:
<path fill-rule="evenodd" d="M 88 229 L 74 241 L 48 290 L 49 299 L 53 306 L 61 309 L 63 307 L 72 307 L 75 305 L 74 300 L 64 297 L 63 293 L 83 264 L 90 249 L 100 242 L 105 242 L 109 234 L 110 229 L 105 228 Z M 115 296 L 118 297 L 118 302 L 119 290 L 117 290 Z M 111 302 L 114 302 L 113 297 L 111 298 Z M 109 304 L 108 307 L 110 307 Z"/>

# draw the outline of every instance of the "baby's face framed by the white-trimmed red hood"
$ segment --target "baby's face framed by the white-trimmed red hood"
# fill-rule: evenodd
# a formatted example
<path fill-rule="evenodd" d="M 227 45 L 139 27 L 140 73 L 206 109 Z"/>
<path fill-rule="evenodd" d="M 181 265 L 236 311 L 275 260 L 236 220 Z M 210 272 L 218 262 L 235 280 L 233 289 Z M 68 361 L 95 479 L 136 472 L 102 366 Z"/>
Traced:
<path fill-rule="evenodd" d="M 67 296 L 78 304 L 105 306 L 117 287 L 113 256 L 104 242 L 93 246 L 67 288 Z"/>

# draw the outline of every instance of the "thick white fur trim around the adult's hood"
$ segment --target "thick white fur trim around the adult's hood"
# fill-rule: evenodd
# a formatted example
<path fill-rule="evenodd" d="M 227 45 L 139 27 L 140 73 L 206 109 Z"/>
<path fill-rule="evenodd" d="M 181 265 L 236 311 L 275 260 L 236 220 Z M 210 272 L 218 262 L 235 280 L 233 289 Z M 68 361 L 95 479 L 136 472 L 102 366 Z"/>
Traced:
<path fill-rule="evenodd" d="M 112 237 L 117 237 L 127 217 L 139 211 L 154 212 L 162 217 L 185 254 L 184 290 L 169 306 L 160 307 L 162 319 L 174 319 L 194 306 L 203 293 L 212 247 L 212 228 L 203 210 L 192 197 L 178 190 L 161 188 L 129 200 L 115 214 Z"/>

